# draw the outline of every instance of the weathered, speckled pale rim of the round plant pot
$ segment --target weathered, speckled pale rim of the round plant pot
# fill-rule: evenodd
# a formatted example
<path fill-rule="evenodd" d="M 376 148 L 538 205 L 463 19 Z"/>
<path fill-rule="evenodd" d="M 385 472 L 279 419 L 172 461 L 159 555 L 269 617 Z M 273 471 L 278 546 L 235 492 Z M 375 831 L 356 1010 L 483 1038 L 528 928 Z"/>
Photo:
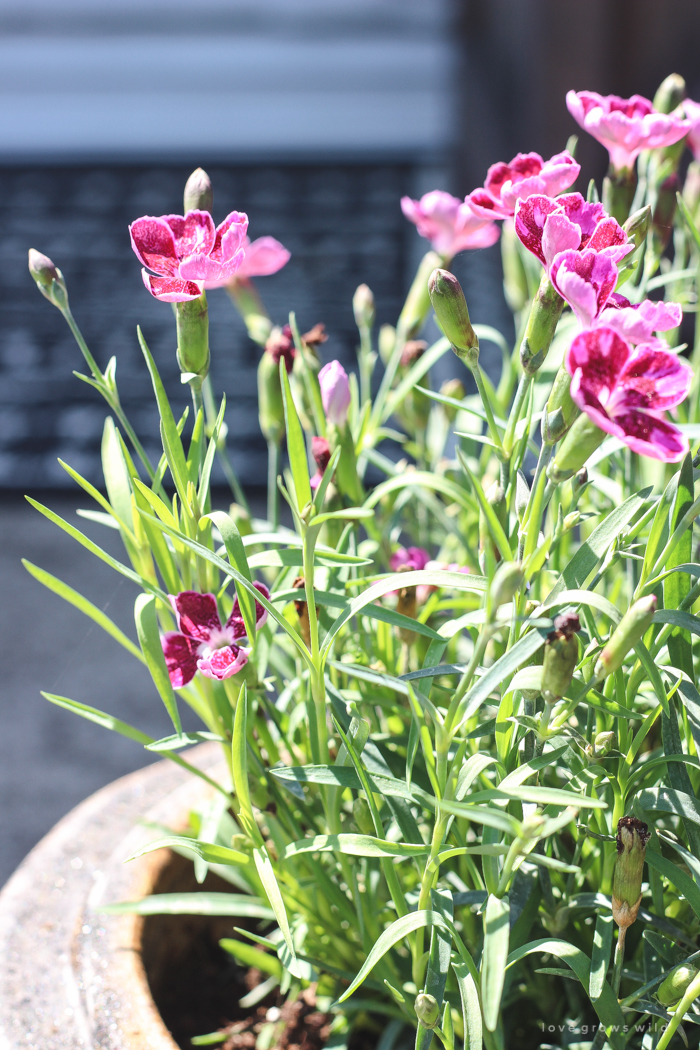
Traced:
<path fill-rule="evenodd" d="M 220 754 L 203 744 L 188 760 L 210 771 Z M 92 795 L 31 850 L 0 894 L 0 1050 L 176 1050 L 142 965 L 143 920 L 99 908 L 152 891 L 166 850 L 124 860 L 160 835 L 146 824 L 184 826 L 211 791 L 158 762 Z"/>

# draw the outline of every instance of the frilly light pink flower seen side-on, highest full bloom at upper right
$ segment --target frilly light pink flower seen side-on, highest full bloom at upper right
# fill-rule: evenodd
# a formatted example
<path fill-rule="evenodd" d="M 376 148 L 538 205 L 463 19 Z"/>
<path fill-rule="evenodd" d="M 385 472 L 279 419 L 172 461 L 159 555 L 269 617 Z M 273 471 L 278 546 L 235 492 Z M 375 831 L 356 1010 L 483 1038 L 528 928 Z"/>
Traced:
<path fill-rule="evenodd" d="M 674 113 L 657 113 L 640 94 L 620 99 L 596 91 L 569 91 L 567 106 L 576 123 L 602 143 L 616 171 L 632 168 L 642 149 L 673 146 L 691 129 L 688 121 Z"/>

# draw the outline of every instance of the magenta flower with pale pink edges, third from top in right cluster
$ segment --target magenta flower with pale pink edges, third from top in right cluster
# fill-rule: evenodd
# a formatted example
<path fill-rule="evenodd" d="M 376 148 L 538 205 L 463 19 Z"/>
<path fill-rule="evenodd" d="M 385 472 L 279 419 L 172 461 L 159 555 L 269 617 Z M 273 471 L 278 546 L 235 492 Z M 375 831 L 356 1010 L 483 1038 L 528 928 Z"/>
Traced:
<path fill-rule="evenodd" d="M 580 193 L 567 193 L 556 201 L 536 194 L 518 201 L 515 233 L 548 274 L 559 252 L 590 248 L 617 262 L 634 250 L 634 243 L 602 205 L 588 203 Z"/>

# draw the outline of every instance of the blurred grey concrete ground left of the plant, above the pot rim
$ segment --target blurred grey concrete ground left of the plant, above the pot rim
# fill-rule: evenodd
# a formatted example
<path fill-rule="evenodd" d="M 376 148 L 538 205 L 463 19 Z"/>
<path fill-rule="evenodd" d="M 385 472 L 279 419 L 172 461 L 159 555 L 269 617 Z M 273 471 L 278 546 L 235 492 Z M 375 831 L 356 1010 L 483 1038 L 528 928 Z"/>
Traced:
<path fill-rule="evenodd" d="M 119 534 L 76 516 L 89 500 L 41 498 L 114 556 Z M 171 724 L 148 672 L 101 628 L 24 569 L 70 584 L 135 638 L 136 587 L 24 500 L 0 501 L 0 885 L 52 824 L 93 791 L 156 760 L 132 740 L 49 704 L 68 696 L 165 736 Z M 183 710 L 183 721 L 197 719 Z"/>

